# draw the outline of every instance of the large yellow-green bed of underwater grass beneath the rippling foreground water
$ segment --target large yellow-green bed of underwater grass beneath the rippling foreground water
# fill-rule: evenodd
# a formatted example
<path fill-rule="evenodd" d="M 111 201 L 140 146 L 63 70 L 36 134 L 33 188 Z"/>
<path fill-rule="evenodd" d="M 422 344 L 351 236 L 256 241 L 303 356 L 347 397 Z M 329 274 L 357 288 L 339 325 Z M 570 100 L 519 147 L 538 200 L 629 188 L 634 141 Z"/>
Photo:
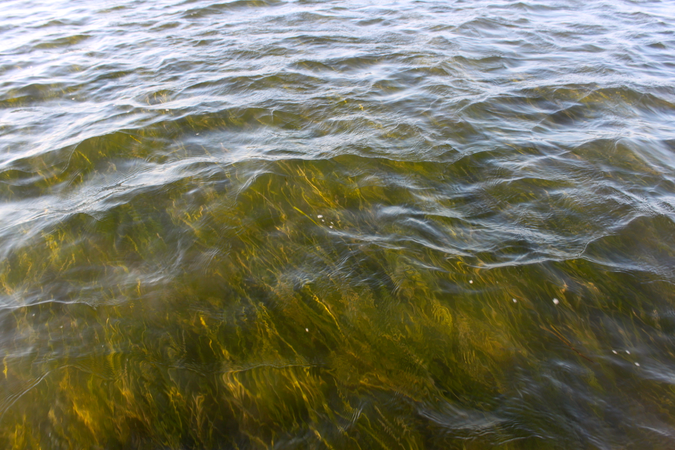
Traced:
<path fill-rule="evenodd" d="M 93 140 L 30 188 L 121 164 L 130 183 L 143 139 Z M 0 263 L 24 301 L 0 316 L 2 447 L 592 448 L 587 427 L 622 430 L 598 397 L 669 421 L 675 392 L 626 350 L 670 342 L 652 312 L 670 284 L 513 263 L 518 242 L 463 252 L 486 227 L 439 211 L 490 201 L 451 192 L 479 158 L 223 164 L 178 146 L 163 165 L 193 175 L 162 195 L 26 226 Z"/>

